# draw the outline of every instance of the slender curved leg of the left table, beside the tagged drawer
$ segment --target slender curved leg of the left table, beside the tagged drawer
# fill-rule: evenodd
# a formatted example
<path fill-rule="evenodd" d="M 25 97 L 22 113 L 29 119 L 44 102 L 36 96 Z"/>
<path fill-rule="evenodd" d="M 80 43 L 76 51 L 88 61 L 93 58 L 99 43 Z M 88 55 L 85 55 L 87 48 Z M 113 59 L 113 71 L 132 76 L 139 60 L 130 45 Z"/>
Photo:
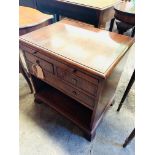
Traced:
<path fill-rule="evenodd" d="M 24 66 L 23 66 L 20 58 L 19 58 L 19 72 L 24 76 L 25 80 L 27 81 L 27 83 L 29 85 L 31 93 L 33 93 L 32 83 L 31 83 L 31 81 L 29 79 L 29 76 L 28 76 L 26 70 L 24 69 Z"/>

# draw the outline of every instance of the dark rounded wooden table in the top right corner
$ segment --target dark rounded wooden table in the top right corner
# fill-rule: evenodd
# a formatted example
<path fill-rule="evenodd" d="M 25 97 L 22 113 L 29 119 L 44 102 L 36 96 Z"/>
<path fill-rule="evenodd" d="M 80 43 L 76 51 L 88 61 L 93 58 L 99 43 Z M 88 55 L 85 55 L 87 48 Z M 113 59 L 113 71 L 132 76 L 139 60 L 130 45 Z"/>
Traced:
<path fill-rule="evenodd" d="M 111 20 L 109 31 L 112 31 L 115 19 L 120 21 L 120 22 L 116 22 L 118 32 L 120 34 L 123 34 L 127 30 L 135 26 L 135 3 L 134 2 L 123 1 L 117 4 L 114 7 L 114 10 L 115 10 L 115 14 L 114 14 L 114 18 Z M 134 36 L 134 31 L 132 36 Z"/>

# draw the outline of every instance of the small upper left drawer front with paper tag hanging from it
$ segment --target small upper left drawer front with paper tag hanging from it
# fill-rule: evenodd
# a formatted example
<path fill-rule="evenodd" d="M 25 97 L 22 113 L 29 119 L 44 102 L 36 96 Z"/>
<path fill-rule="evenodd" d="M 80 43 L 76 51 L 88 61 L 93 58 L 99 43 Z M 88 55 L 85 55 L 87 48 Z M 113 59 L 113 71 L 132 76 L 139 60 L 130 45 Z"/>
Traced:
<path fill-rule="evenodd" d="M 44 60 L 42 60 L 42 59 L 40 59 L 40 58 L 38 58 L 38 57 L 34 56 L 33 54 L 28 53 L 28 52 L 25 52 L 25 57 L 31 63 L 38 64 L 44 70 L 51 72 L 51 73 L 54 73 L 53 64 L 48 63 L 47 61 L 44 61 Z"/>

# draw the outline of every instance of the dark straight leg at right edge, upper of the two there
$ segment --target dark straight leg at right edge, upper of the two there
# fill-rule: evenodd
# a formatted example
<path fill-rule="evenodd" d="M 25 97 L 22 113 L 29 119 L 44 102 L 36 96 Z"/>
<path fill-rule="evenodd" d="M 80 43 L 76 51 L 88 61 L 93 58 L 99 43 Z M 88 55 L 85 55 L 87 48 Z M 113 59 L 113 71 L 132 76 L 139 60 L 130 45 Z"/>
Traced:
<path fill-rule="evenodd" d="M 133 72 L 133 74 L 132 74 L 132 76 L 131 76 L 131 79 L 130 79 L 130 81 L 129 81 L 129 84 L 128 84 L 128 86 L 127 86 L 125 92 L 124 92 L 124 95 L 123 95 L 123 97 L 122 97 L 122 99 L 121 99 L 121 102 L 120 102 L 120 104 L 119 104 L 119 106 L 118 106 L 117 111 L 120 111 L 120 109 L 121 109 L 121 107 L 122 107 L 122 104 L 123 104 L 124 100 L 126 99 L 126 97 L 127 97 L 128 93 L 129 93 L 129 91 L 130 91 L 130 89 L 131 89 L 131 87 L 132 87 L 134 81 L 135 81 L 135 70 L 134 70 L 134 72 Z"/>

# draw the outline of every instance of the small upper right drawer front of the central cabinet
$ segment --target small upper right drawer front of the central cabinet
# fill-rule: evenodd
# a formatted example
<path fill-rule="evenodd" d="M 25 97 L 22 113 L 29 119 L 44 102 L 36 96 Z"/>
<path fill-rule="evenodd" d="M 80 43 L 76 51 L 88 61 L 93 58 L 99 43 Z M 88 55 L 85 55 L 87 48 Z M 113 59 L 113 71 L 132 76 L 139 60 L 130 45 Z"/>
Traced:
<path fill-rule="evenodd" d="M 96 96 L 97 86 L 84 78 L 76 76 L 75 72 L 67 72 L 66 70 L 57 67 L 57 75 L 59 78 L 71 83 L 73 86 L 78 87 L 88 93 Z"/>

